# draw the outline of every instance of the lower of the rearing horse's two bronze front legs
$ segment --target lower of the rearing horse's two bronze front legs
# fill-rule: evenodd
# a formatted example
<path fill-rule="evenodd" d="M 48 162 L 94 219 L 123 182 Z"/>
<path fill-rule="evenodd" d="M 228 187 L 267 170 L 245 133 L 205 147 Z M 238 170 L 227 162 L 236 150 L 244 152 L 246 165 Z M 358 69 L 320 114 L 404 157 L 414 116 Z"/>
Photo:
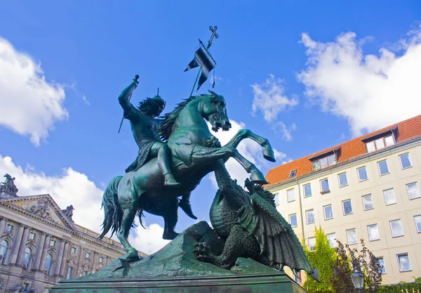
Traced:
<path fill-rule="evenodd" d="M 223 146 L 222 148 L 206 148 L 201 145 L 196 145 L 194 151 L 192 152 L 192 167 L 213 163 L 218 159 L 224 159 L 226 161 L 230 157 L 239 162 L 241 167 L 250 174 L 250 181 L 257 184 L 267 184 L 265 176 L 257 167 L 255 167 L 255 164 L 248 161 L 248 159 L 243 157 L 236 148 L 231 146 Z"/>

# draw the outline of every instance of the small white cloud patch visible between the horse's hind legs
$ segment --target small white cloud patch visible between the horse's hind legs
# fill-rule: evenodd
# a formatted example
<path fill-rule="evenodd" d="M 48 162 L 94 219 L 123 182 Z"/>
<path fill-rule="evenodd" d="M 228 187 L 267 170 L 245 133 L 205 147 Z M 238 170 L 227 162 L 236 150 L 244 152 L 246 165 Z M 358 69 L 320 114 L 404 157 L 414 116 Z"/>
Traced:
<path fill-rule="evenodd" d="M 153 223 L 145 228 L 138 226 L 134 229 L 134 233 L 128 236 L 131 245 L 138 247 L 145 254 L 153 254 L 170 242 L 162 239 L 163 228 L 158 224 Z"/>

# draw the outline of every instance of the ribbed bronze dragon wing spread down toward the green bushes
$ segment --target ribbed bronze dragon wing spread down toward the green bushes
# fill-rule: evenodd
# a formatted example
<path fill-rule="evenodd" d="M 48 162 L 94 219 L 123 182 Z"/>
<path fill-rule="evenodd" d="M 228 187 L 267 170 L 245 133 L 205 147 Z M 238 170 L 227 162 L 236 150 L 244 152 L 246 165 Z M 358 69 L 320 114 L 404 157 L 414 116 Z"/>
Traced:
<path fill-rule="evenodd" d="M 260 244 L 260 254 L 269 260 L 269 266 L 288 266 L 297 275 L 304 270 L 317 280 L 304 249 L 290 224 L 283 219 L 269 202 L 257 193 L 250 195 L 250 207 L 239 209 L 239 223 L 253 235 Z"/>

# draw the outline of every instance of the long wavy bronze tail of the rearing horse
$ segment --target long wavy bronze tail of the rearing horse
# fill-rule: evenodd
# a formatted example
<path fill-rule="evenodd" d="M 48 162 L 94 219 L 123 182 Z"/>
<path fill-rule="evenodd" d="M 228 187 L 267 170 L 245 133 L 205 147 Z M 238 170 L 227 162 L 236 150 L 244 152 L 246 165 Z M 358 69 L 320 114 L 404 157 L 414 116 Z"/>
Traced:
<path fill-rule="evenodd" d="M 102 233 L 99 240 L 101 240 L 110 229 L 111 236 L 119 232 L 121 221 L 123 221 L 123 210 L 119 204 L 117 197 L 117 188 L 123 176 L 116 176 L 109 181 L 107 188 L 105 188 L 104 195 L 102 195 L 102 207 L 104 208 L 104 221 L 102 222 Z M 101 207 L 101 208 L 102 208 Z"/>

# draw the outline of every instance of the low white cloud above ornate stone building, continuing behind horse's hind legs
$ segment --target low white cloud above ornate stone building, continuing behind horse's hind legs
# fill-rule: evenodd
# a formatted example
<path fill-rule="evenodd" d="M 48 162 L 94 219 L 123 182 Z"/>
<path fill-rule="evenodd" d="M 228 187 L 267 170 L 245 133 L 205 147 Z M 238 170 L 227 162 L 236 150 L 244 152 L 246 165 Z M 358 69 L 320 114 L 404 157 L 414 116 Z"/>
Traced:
<path fill-rule="evenodd" d="M 104 220 L 101 208 L 103 190 L 98 188 L 88 176 L 72 168 L 63 169 L 58 176 L 46 176 L 36 172 L 34 167 L 23 169 L 17 166 L 11 157 L 0 155 L 0 174 L 11 174 L 15 177 L 18 195 L 39 195 L 48 193 L 61 209 L 72 204 L 75 208 L 73 220 L 75 223 L 100 233 L 100 224 Z M 1 181 L 1 179 L 0 179 Z M 133 233 L 134 232 L 134 233 Z M 133 247 L 147 254 L 155 252 L 166 243 L 162 239 L 163 228 L 152 223 L 145 230 L 142 226 L 132 229 L 130 236 Z M 115 239 L 115 235 L 113 236 Z"/>

